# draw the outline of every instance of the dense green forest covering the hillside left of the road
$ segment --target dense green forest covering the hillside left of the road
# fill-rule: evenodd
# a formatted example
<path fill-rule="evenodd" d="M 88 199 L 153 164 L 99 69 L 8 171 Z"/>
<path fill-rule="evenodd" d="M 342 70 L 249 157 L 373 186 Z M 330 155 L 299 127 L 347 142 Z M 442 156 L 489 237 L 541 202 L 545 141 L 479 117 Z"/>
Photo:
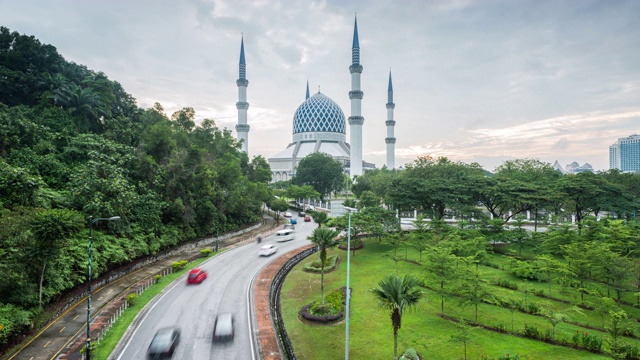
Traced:
<path fill-rule="evenodd" d="M 93 275 L 262 217 L 266 160 L 213 120 L 141 109 L 105 74 L 0 27 L 0 348 Z M 34 324 L 38 325 L 38 324 Z"/>

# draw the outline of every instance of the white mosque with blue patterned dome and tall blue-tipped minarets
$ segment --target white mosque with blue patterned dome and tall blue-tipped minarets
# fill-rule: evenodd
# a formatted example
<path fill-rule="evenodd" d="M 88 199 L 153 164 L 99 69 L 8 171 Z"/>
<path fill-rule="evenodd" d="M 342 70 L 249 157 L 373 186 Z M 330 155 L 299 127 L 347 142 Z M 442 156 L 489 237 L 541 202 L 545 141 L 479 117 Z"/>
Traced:
<path fill-rule="evenodd" d="M 238 141 L 242 144 L 242 150 L 248 151 L 249 128 L 247 124 L 247 86 L 246 63 L 244 56 L 244 39 L 240 43 L 240 64 L 238 86 L 238 124 L 236 132 Z M 360 43 L 358 40 L 358 20 L 354 21 L 353 45 L 351 47 L 351 115 L 349 116 L 350 141 L 347 143 L 346 121 L 344 113 L 338 104 L 320 91 L 310 96 L 309 82 L 307 81 L 307 93 L 305 101 L 298 107 L 293 115 L 293 139 L 286 149 L 267 159 L 272 172 L 272 182 L 290 180 L 296 171 L 297 164 L 305 156 L 323 152 L 331 155 L 335 160 L 343 164 L 345 172 L 353 178 L 362 175 L 363 171 L 374 169 L 375 165 L 362 160 L 362 126 L 364 117 L 361 114 L 361 102 L 364 93 L 360 89 Z M 388 169 L 395 168 L 395 142 L 393 111 L 393 86 L 391 72 L 389 72 L 387 107 L 387 161 Z"/>

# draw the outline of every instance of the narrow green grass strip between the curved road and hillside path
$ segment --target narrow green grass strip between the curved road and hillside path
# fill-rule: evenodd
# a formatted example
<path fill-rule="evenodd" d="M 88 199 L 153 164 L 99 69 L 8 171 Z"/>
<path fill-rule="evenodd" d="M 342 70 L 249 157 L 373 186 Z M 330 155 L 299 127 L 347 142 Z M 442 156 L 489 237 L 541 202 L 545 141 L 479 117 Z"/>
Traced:
<path fill-rule="evenodd" d="M 93 351 L 93 358 L 97 360 L 106 360 L 111 352 L 113 352 L 113 349 L 115 349 L 116 345 L 118 345 L 118 342 L 127 331 L 136 315 L 138 315 L 138 313 L 151 300 L 153 300 L 154 297 L 160 294 L 162 290 L 164 290 L 167 286 L 171 285 L 171 283 L 179 278 L 182 274 L 208 259 L 210 259 L 210 257 L 201 258 L 188 263 L 182 270 L 163 277 L 156 284 L 151 285 L 147 290 L 140 294 L 140 296 L 136 299 L 135 304 L 129 306 L 122 313 L 118 320 L 113 323 L 105 336 L 100 340 L 100 343 L 97 344 L 95 350 Z"/>

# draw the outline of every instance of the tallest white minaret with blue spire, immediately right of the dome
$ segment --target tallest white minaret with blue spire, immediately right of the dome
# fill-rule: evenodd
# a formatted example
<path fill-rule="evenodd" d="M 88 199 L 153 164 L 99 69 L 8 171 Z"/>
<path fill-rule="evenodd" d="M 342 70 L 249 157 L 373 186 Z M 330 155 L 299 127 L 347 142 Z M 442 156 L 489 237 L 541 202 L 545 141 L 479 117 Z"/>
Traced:
<path fill-rule="evenodd" d="M 358 41 L 358 18 L 355 19 L 353 26 L 353 46 L 351 47 L 351 91 L 349 91 L 349 99 L 351 100 L 351 116 L 349 116 L 349 129 L 351 133 L 351 177 L 362 175 L 362 96 L 364 93 L 360 90 L 360 74 L 362 74 L 362 65 L 360 65 L 360 43 Z"/>

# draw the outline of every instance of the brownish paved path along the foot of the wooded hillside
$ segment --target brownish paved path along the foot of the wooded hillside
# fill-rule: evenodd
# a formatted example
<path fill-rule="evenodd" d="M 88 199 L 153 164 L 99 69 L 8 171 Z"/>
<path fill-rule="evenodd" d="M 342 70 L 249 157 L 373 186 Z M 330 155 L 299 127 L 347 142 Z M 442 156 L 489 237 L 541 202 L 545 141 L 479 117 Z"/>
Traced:
<path fill-rule="evenodd" d="M 275 220 L 263 219 L 263 225 L 244 234 L 225 239 L 221 247 L 233 248 L 255 241 L 257 234 L 275 231 Z M 212 246 L 206 246 L 211 248 Z M 215 248 L 215 245 L 213 246 Z M 104 286 L 92 289 L 91 295 L 91 338 L 97 339 L 113 314 L 124 303 L 124 297 L 146 286 L 157 274 L 166 272 L 178 260 L 193 260 L 200 257 L 202 247 L 184 251 L 144 266 Z M 57 319 L 38 332 L 18 352 L 7 360 L 53 360 L 81 359 L 80 349 L 86 343 L 87 297 L 84 296 L 66 309 Z"/>

